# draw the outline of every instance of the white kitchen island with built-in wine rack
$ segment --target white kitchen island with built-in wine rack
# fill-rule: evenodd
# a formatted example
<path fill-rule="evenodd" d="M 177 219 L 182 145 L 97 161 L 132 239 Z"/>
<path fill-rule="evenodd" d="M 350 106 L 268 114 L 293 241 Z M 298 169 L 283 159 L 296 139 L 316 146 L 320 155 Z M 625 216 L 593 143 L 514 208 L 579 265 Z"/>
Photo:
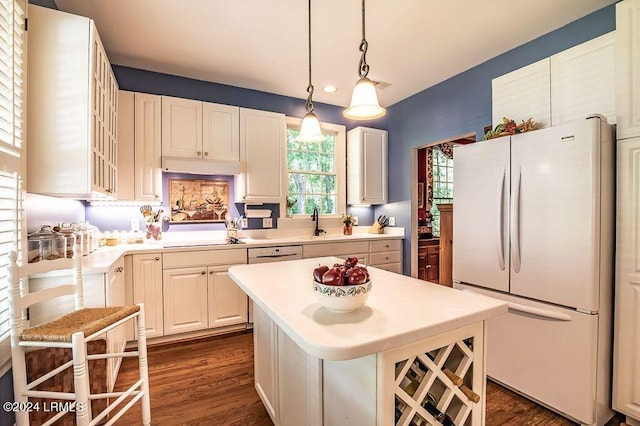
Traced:
<path fill-rule="evenodd" d="M 256 390 L 273 422 L 484 424 L 484 321 L 507 305 L 370 267 L 366 304 L 336 313 L 312 286 L 313 269 L 334 263 L 229 269 L 254 302 Z"/>

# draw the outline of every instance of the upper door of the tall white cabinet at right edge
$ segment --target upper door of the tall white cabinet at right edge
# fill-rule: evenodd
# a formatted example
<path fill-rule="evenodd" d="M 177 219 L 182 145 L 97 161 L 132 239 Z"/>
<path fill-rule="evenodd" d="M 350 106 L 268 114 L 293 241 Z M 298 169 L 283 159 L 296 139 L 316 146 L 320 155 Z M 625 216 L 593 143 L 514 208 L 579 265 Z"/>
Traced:
<path fill-rule="evenodd" d="M 617 137 L 640 136 L 640 0 L 616 4 Z"/>

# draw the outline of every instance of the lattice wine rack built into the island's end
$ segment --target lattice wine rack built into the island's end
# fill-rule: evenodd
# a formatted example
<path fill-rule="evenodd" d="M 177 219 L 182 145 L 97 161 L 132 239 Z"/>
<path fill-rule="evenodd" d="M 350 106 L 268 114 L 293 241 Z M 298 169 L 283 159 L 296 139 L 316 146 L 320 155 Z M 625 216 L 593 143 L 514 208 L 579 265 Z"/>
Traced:
<path fill-rule="evenodd" d="M 482 424 L 483 345 L 482 326 L 474 325 L 386 352 L 385 374 L 393 374 L 393 424 Z"/>

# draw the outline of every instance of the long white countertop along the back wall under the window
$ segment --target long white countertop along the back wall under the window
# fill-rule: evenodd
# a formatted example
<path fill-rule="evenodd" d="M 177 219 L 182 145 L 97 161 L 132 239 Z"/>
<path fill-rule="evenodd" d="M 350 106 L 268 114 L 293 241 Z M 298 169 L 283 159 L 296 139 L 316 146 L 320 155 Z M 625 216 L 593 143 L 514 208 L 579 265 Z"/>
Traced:
<path fill-rule="evenodd" d="M 322 244 L 330 242 L 367 241 L 381 239 L 404 238 L 402 228 L 385 234 L 369 234 L 366 232 L 353 235 L 328 234 L 320 237 L 312 236 L 274 236 L 270 238 L 240 238 L 244 244 L 221 244 L 224 231 L 211 232 L 166 232 L 164 240 L 145 242 L 144 244 L 121 244 L 113 247 L 100 247 L 98 250 L 82 258 L 85 274 L 102 274 L 127 254 L 169 253 L 185 250 L 229 250 L 251 247 L 271 247 L 277 245 Z M 395 231 L 395 232 L 394 232 Z"/>

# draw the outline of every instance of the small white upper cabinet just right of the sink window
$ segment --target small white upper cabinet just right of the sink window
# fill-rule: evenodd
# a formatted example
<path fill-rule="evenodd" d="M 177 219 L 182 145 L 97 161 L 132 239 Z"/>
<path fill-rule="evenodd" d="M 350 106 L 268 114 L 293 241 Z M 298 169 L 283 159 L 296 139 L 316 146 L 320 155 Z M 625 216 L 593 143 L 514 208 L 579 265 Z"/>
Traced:
<path fill-rule="evenodd" d="M 387 202 L 387 131 L 356 127 L 347 132 L 347 203 Z"/>

